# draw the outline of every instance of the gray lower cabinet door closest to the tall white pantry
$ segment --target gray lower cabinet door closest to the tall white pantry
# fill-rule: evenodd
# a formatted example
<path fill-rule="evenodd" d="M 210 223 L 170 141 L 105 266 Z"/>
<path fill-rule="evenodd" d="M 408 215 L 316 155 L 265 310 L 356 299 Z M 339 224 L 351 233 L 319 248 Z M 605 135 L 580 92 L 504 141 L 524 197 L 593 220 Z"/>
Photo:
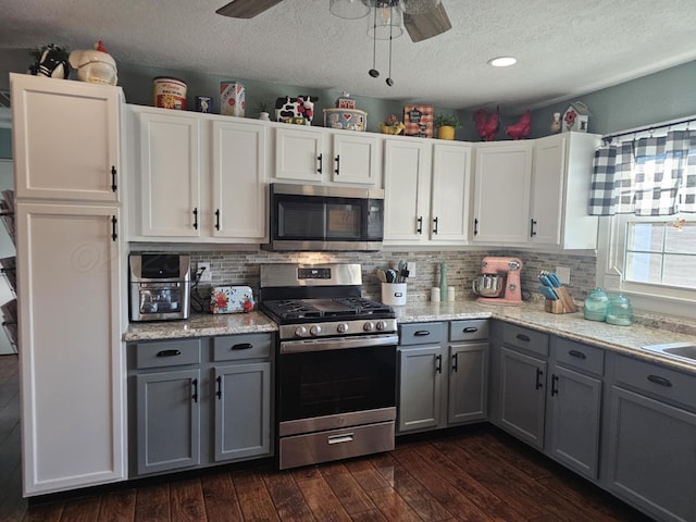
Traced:
<path fill-rule="evenodd" d="M 200 463 L 200 370 L 136 376 L 138 474 Z"/>

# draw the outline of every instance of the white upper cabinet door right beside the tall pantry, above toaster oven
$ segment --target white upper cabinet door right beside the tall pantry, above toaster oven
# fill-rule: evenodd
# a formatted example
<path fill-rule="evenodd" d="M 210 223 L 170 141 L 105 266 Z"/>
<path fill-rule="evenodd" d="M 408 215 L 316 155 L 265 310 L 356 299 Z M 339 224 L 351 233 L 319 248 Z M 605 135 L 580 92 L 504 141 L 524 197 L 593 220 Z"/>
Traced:
<path fill-rule="evenodd" d="M 142 236 L 200 236 L 200 119 L 175 112 L 137 114 Z"/>

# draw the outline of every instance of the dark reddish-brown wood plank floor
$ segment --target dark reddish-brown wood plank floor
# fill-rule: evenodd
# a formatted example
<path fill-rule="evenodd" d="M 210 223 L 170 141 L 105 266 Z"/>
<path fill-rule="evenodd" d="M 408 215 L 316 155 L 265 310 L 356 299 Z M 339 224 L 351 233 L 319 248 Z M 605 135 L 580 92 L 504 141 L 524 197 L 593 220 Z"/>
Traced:
<path fill-rule="evenodd" d="M 650 519 L 495 427 L 472 426 L 389 453 L 201 476 L 72 496 L 21 498 L 16 357 L 0 357 L 2 521 L 631 521 Z"/>

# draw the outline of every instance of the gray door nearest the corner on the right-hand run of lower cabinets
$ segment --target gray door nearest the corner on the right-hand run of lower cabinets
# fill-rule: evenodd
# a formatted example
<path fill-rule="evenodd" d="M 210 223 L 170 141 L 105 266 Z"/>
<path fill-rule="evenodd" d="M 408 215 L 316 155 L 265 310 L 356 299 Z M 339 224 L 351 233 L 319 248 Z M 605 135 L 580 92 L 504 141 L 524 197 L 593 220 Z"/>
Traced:
<path fill-rule="evenodd" d="M 546 361 L 504 347 L 499 393 L 500 427 L 543 449 Z"/>

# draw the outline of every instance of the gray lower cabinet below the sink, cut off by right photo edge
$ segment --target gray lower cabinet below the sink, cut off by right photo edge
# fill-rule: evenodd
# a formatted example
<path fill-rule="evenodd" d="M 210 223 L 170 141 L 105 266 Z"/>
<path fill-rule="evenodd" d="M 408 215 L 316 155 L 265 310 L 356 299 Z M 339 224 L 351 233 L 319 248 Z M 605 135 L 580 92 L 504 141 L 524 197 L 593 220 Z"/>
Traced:
<path fill-rule="evenodd" d="M 617 356 L 607 487 L 661 521 L 696 521 L 696 377 Z"/>

